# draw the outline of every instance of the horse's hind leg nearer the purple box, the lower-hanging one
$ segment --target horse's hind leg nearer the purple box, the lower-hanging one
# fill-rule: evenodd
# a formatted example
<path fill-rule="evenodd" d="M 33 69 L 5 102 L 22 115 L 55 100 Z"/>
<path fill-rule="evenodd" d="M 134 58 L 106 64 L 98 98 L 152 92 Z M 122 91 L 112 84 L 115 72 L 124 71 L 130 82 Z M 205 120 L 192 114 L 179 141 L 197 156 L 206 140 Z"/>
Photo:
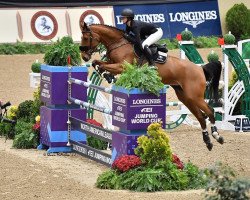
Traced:
<path fill-rule="evenodd" d="M 178 97 L 178 99 L 190 110 L 190 112 L 196 117 L 196 119 L 199 121 L 201 128 L 202 128 L 202 137 L 203 141 L 205 142 L 207 148 L 209 151 L 212 150 L 213 144 L 210 140 L 208 131 L 207 131 L 207 125 L 204 118 L 204 114 L 201 112 L 201 110 L 194 104 L 193 101 L 189 100 L 186 96 L 184 91 L 180 87 L 173 87 L 175 90 L 175 93 Z"/>

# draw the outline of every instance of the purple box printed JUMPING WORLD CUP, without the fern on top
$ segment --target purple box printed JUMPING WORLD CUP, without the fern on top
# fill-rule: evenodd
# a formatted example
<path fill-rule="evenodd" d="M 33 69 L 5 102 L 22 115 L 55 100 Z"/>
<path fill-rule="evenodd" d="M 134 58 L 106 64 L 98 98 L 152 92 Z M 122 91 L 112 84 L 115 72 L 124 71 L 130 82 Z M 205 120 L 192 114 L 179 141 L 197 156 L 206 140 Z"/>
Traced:
<path fill-rule="evenodd" d="M 113 125 L 121 131 L 146 130 L 153 122 L 166 123 L 166 89 L 160 96 L 139 89 L 113 87 Z"/>

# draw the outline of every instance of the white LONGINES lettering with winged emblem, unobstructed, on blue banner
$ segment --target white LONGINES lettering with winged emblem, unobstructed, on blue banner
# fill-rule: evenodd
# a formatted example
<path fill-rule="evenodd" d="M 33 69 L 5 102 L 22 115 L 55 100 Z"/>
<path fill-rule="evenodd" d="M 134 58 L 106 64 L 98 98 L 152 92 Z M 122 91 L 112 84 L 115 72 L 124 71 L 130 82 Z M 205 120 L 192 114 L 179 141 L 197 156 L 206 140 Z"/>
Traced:
<path fill-rule="evenodd" d="M 195 11 L 195 12 L 176 12 L 169 13 L 170 22 L 182 22 L 188 24 L 193 28 L 197 28 L 199 24 L 207 20 L 216 20 L 217 13 L 215 10 L 211 11 Z"/>

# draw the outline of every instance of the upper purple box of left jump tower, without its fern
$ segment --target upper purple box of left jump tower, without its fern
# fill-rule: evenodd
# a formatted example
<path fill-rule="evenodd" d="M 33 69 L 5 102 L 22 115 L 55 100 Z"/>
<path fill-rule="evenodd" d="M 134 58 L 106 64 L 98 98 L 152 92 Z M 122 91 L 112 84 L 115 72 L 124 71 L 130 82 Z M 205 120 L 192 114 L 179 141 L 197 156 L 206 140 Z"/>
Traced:
<path fill-rule="evenodd" d="M 71 77 L 87 81 L 88 69 L 85 66 L 68 67 L 42 65 L 41 101 L 49 105 L 66 105 L 68 100 L 68 79 Z M 72 84 L 72 97 L 86 101 L 87 88 Z"/>

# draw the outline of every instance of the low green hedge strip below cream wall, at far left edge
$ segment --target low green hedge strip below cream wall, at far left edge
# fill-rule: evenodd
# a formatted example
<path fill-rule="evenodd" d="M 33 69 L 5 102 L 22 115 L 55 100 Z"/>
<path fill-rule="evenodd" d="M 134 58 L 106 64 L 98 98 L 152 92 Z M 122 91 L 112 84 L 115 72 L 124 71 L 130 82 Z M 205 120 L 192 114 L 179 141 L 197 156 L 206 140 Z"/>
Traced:
<path fill-rule="evenodd" d="M 32 44 L 17 41 L 15 44 L 0 44 L 0 54 L 39 54 L 45 53 L 48 44 Z"/>

